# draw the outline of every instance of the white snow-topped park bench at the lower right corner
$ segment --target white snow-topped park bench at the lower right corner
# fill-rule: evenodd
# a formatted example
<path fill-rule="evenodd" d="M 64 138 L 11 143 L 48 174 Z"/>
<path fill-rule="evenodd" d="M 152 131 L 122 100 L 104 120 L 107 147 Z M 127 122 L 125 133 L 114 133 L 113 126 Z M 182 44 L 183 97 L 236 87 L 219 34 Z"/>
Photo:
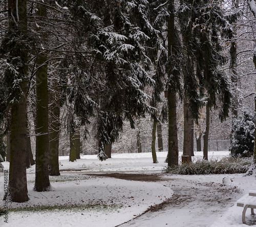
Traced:
<path fill-rule="evenodd" d="M 237 201 L 237 206 L 244 208 L 242 213 L 242 221 L 243 221 L 243 224 L 246 224 L 245 213 L 247 208 L 251 209 L 251 215 L 255 215 L 253 209 L 256 209 L 256 191 L 249 191 L 249 195 L 244 195 L 242 198 L 240 198 Z M 254 224 L 247 224 L 247 225 L 254 225 Z"/>

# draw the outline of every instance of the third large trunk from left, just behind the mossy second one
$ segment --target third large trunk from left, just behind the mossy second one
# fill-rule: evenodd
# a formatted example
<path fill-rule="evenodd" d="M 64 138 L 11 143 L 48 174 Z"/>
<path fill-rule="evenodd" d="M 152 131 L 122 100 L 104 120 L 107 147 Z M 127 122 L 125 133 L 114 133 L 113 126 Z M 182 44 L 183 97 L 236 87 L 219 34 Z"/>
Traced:
<path fill-rule="evenodd" d="M 49 94 L 49 174 L 50 176 L 59 176 L 60 97 L 57 79 L 53 79 L 53 84 L 54 88 Z"/>

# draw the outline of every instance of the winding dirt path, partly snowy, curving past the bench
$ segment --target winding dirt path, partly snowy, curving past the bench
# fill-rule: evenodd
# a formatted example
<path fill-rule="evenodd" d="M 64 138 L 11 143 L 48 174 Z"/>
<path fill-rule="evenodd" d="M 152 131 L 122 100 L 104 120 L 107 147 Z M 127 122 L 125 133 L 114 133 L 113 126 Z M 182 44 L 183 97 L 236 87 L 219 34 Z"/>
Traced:
<path fill-rule="evenodd" d="M 169 177 L 164 175 L 146 174 L 93 174 L 106 177 L 116 177 L 125 180 L 157 181 L 166 187 L 172 188 L 172 198 L 151 207 L 140 216 L 120 224 L 120 227 L 161 227 L 171 226 L 166 221 L 166 216 L 176 223 L 172 227 L 203 227 L 210 226 L 215 222 L 226 209 L 233 205 L 241 196 L 236 187 L 225 186 L 212 182 L 210 176 L 205 180 L 198 181 L 196 178 Z M 198 213 L 198 211 L 201 211 Z M 207 220 L 207 222 L 205 222 Z M 116 226 L 117 227 L 117 226 Z"/>

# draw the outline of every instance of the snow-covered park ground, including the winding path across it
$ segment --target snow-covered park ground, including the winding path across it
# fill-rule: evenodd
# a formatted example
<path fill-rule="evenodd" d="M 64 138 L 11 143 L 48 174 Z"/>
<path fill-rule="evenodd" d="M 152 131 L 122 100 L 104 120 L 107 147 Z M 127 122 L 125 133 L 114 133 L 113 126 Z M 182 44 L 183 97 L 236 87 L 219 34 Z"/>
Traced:
<path fill-rule="evenodd" d="M 81 156 L 74 163 L 69 162 L 67 156 L 60 157 L 61 175 L 50 176 L 50 192 L 33 191 L 33 166 L 27 170 L 30 200 L 24 203 L 9 202 L 9 208 L 44 205 L 68 205 L 71 208 L 9 212 L 8 223 L 4 222 L 5 216 L 1 216 L 0 226 L 114 227 L 140 216 L 151 206 L 156 207 L 164 201 L 162 209 L 147 212 L 121 226 L 246 226 L 242 224 L 243 208 L 237 207 L 236 201 L 249 190 L 256 190 L 255 177 L 245 177 L 243 174 L 165 174 L 162 170 L 167 166 L 164 163 L 166 154 L 157 152 L 158 164 L 153 164 L 151 153 L 113 154 L 112 158 L 103 162 L 96 155 Z M 209 152 L 208 157 L 220 160 L 227 155 L 229 152 L 218 151 Z M 202 158 L 202 152 L 195 152 L 194 159 L 197 158 Z M 4 162 L 3 165 L 5 170 L 9 169 L 9 163 Z M 110 173 L 112 177 L 106 176 Z M 122 179 L 124 177 L 117 173 L 122 176 L 134 174 L 134 180 Z M 155 180 L 136 179 L 139 174 L 153 175 Z M 0 198 L 3 195 L 4 174 L 0 173 Z M 208 197 L 211 199 L 207 200 Z M 3 207 L 4 201 L 0 202 Z M 90 206 L 86 207 L 87 205 Z M 252 219 L 250 212 L 247 213 L 247 218 Z"/>

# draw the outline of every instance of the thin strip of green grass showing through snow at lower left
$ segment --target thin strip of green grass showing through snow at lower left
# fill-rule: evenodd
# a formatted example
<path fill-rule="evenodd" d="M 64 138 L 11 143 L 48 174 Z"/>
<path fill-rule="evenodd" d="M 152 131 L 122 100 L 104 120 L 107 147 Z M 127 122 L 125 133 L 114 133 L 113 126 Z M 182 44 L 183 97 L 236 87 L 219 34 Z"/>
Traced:
<path fill-rule="evenodd" d="M 121 205 L 103 205 L 103 204 L 88 204 L 88 205 L 44 205 L 34 207 L 19 207 L 8 209 L 8 212 L 46 212 L 46 211 L 114 211 L 121 208 Z M 1 208 L 0 208 L 1 209 Z"/>

